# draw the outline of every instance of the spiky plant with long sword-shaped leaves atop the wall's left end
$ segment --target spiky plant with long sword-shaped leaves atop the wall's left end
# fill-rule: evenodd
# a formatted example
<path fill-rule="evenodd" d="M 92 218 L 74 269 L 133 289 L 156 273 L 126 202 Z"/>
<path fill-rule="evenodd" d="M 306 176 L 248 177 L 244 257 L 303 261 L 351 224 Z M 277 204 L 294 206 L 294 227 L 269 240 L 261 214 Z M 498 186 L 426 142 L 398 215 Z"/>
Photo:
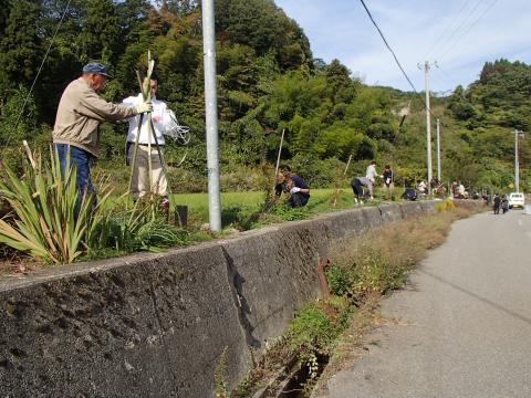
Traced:
<path fill-rule="evenodd" d="M 21 178 L 6 167 L 0 195 L 14 214 L 0 220 L 0 242 L 48 263 L 70 264 L 90 247 L 111 189 L 102 187 L 95 203 L 94 196 L 75 188 L 75 167 L 63 175 L 58 155 L 50 154 L 50 163 L 38 157 L 34 166 L 25 165 Z"/>

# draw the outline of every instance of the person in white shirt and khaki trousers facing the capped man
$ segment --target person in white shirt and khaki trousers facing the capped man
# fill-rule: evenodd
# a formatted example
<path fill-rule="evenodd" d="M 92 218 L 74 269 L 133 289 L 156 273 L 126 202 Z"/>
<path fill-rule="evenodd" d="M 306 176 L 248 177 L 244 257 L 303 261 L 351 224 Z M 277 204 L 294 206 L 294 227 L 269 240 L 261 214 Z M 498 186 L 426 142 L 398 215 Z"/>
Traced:
<path fill-rule="evenodd" d="M 145 82 L 144 82 L 145 83 Z M 168 108 L 166 103 L 156 98 L 158 83 L 155 78 L 149 81 L 149 90 L 152 93 L 152 121 L 153 121 L 153 133 L 148 129 L 148 117 L 144 115 L 142 121 L 140 136 L 138 138 L 138 151 L 136 159 L 136 167 L 133 170 L 132 178 L 132 195 L 134 198 L 138 199 L 146 196 L 149 192 L 149 176 L 148 176 L 148 158 L 152 158 L 152 189 L 150 191 L 155 195 L 163 197 L 160 207 L 163 210 L 166 210 L 169 206 L 168 201 L 168 181 L 164 172 L 163 164 L 160 156 L 163 156 L 163 149 L 165 145 L 165 139 L 163 132 L 165 126 L 171 123 L 173 112 Z M 144 98 L 142 94 L 137 96 L 129 96 L 125 98 L 122 103 L 127 106 L 136 106 L 142 104 Z M 174 116 L 175 117 L 175 116 Z M 140 116 L 137 115 L 128 119 L 129 122 L 129 132 L 127 134 L 127 161 L 132 164 L 136 135 L 138 134 L 138 123 L 140 122 Z M 149 133 L 152 136 L 149 137 Z M 156 139 L 155 139 L 156 137 Z M 149 154 L 148 144 L 150 142 L 152 149 Z M 160 156 L 157 150 L 160 150 Z"/>

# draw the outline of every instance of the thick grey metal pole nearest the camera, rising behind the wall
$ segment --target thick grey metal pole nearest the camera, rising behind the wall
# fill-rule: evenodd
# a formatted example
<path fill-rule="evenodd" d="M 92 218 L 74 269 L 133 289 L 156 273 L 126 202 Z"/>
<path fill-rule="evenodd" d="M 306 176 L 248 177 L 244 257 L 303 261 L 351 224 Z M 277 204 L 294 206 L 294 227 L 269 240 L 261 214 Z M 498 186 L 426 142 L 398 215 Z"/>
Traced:
<path fill-rule="evenodd" d="M 214 0 L 202 1 L 202 52 L 207 127 L 208 214 L 210 230 L 221 230 L 219 193 L 218 97 L 216 86 L 216 33 Z"/>

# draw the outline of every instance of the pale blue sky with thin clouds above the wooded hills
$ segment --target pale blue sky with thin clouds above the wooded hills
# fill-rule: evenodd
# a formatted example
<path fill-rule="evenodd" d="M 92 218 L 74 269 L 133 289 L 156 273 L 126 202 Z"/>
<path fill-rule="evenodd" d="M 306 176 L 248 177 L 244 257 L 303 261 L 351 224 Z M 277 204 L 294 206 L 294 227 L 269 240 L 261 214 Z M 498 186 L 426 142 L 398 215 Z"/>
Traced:
<path fill-rule="evenodd" d="M 313 56 L 339 59 L 367 84 L 410 90 L 358 0 L 275 0 L 310 39 Z M 487 61 L 531 63 L 531 0 L 365 0 L 418 91 L 417 63 L 437 61 L 433 91 L 478 78 Z"/>

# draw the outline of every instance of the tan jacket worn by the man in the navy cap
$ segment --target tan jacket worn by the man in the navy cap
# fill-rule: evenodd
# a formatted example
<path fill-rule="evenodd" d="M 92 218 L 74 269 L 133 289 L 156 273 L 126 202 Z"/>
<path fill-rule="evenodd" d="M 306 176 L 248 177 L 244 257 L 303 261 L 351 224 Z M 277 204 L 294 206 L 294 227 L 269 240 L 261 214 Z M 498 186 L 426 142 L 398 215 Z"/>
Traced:
<path fill-rule="evenodd" d="M 53 143 L 73 145 L 97 156 L 100 123 L 135 115 L 135 107 L 107 103 L 82 77 L 76 78 L 66 86 L 59 102 Z"/>

